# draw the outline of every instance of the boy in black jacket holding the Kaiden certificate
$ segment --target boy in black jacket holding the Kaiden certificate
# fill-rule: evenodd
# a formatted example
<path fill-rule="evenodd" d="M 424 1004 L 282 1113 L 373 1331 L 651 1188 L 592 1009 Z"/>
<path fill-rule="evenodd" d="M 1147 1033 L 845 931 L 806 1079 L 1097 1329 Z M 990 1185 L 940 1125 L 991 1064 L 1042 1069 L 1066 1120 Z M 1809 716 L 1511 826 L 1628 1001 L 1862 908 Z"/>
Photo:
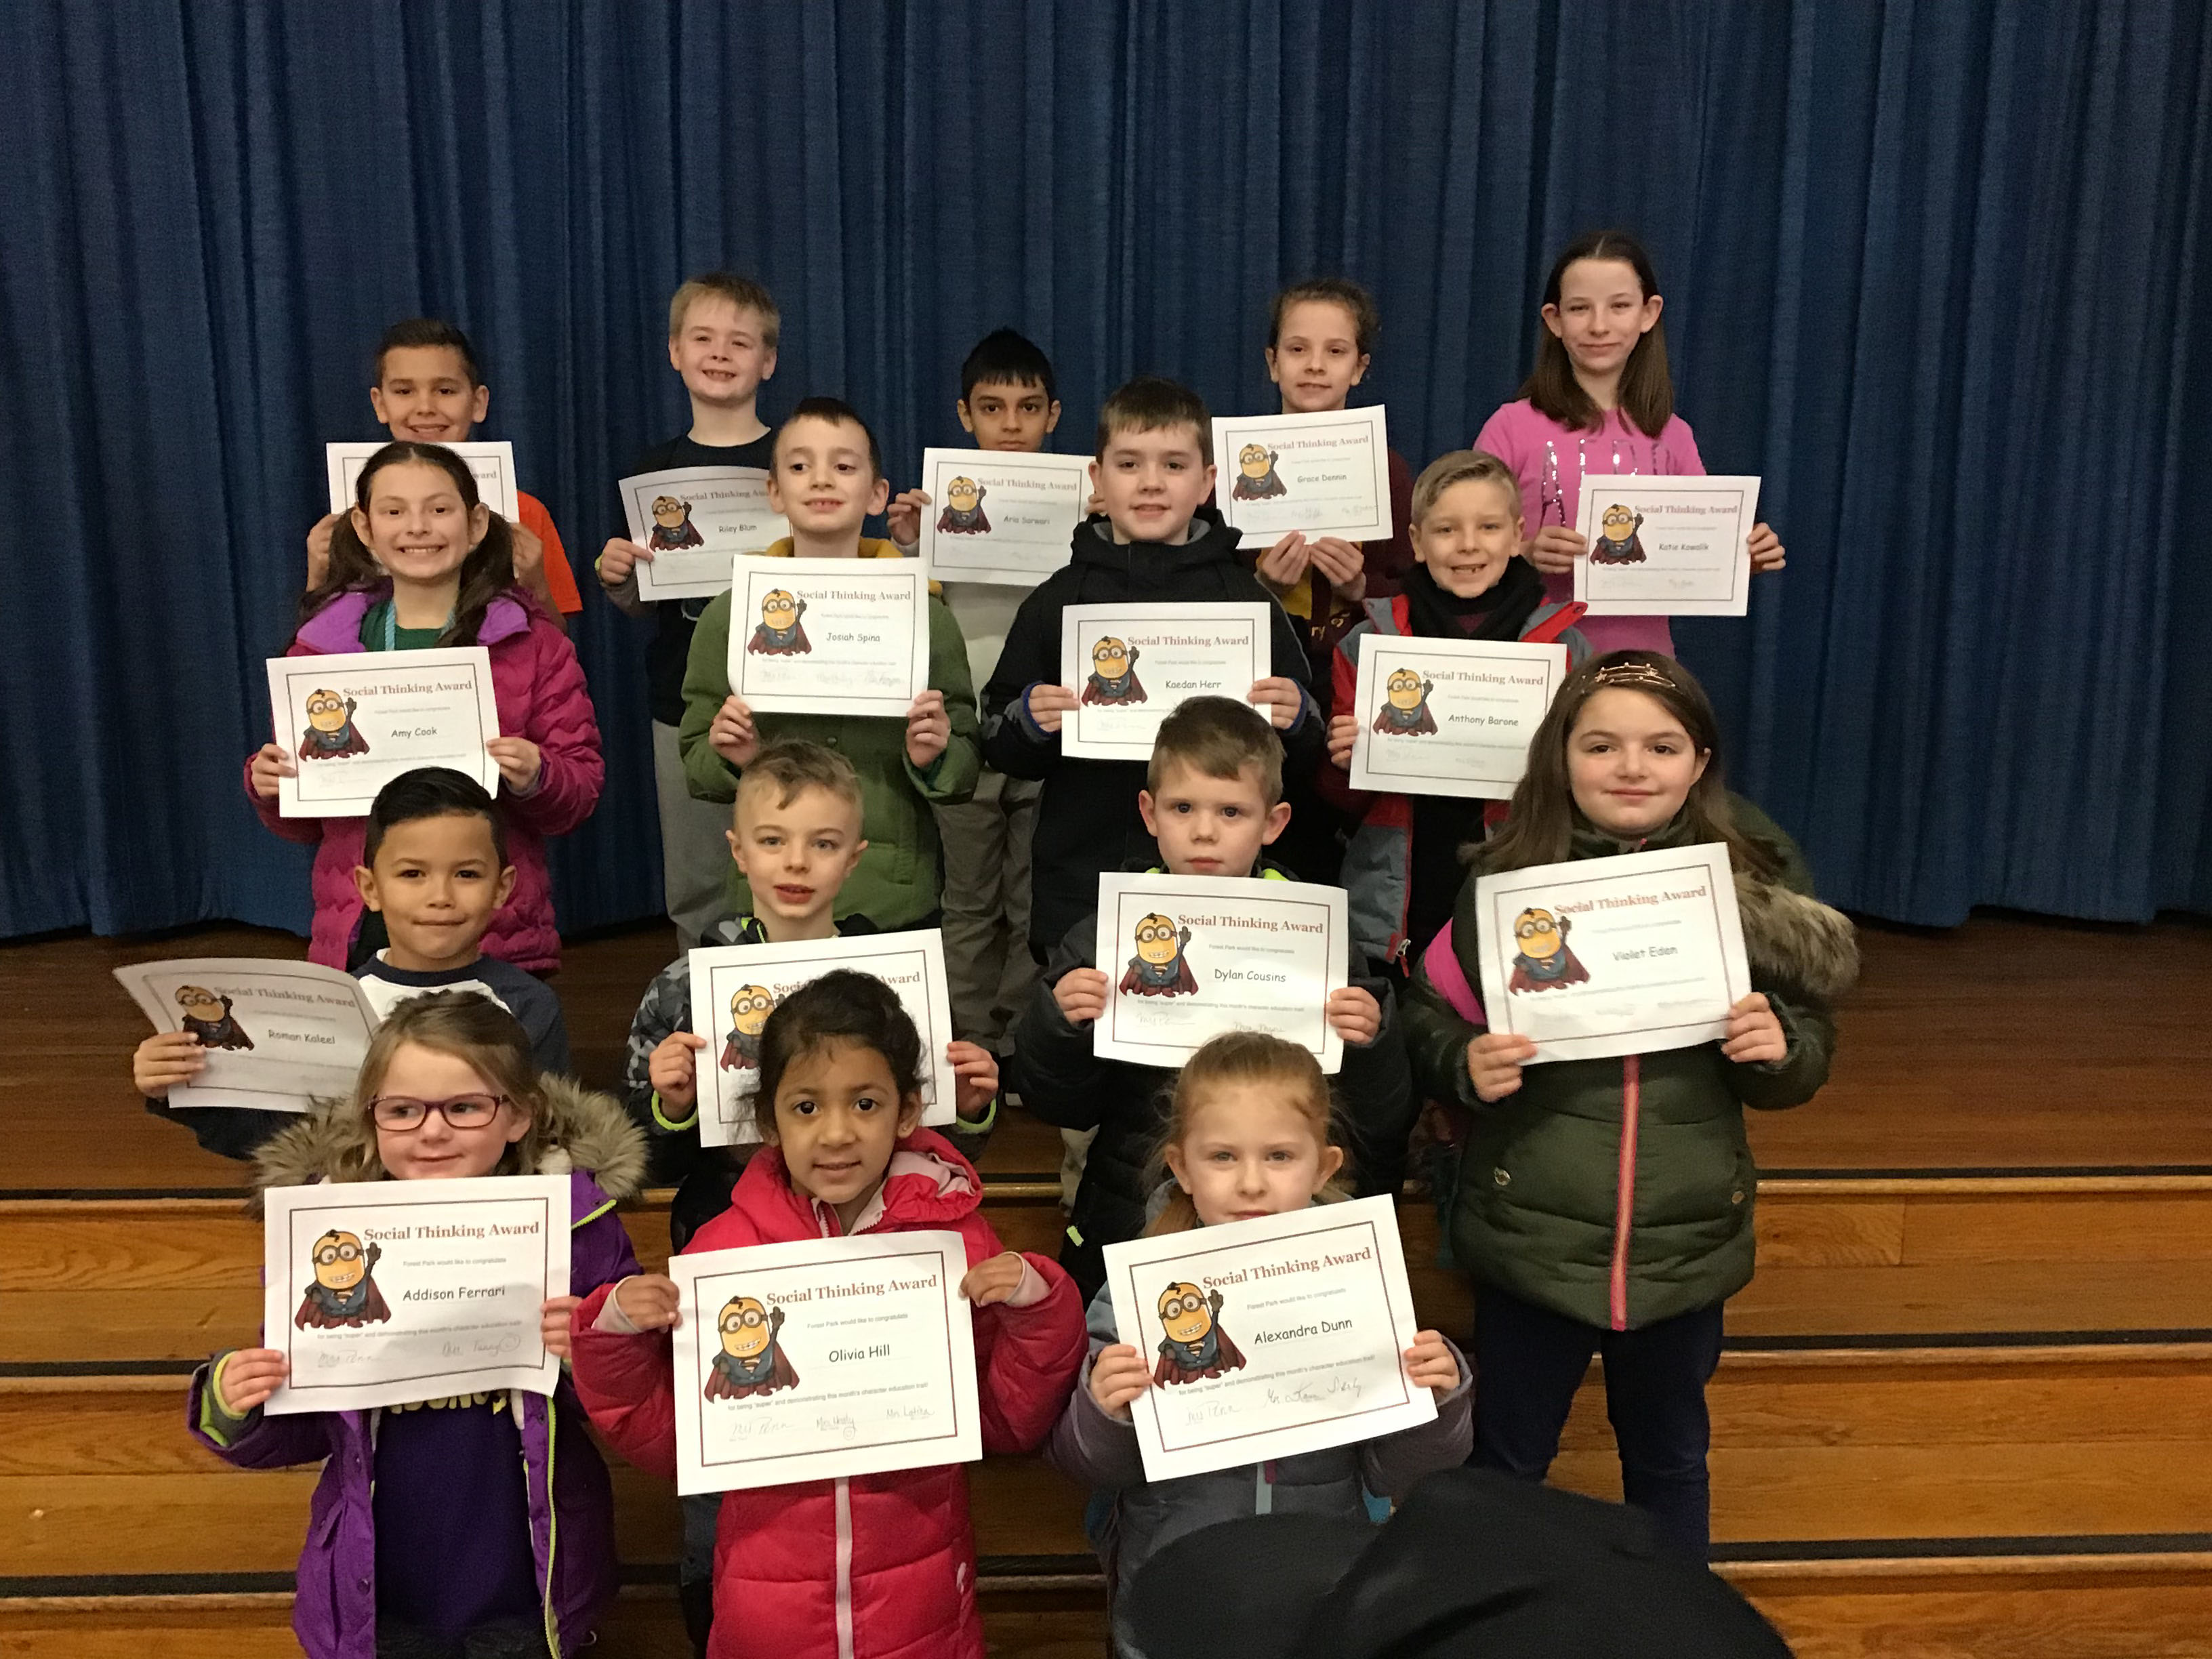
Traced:
<path fill-rule="evenodd" d="M 1212 416 L 1197 392 L 1141 376 L 1099 409 L 1091 482 L 1104 507 L 1075 531 L 1068 564 L 1048 575 L 1006 630 L 982 692 L 982 752 L 1013 779 L 1040 779 L 1031 843 L 1029 951 L 1040 962 L 1097 907 L 1097 878 L 1157 860 L 1137 814 L 1141 761 L 1079 761 L 1060 752 L 1075 690 L 1060 684 L 1060 613 L 1071 604 L 1223 604 L 1274 611 L 1272 668 L 1245 695 L 1283 743 L 1283 770 L 1307 776 L 1325 721 L 1307 695 L 1305 646 L 1259 577 L 1237 562 L 1239 533 L 1199 515 L 1214 493 Z"/>

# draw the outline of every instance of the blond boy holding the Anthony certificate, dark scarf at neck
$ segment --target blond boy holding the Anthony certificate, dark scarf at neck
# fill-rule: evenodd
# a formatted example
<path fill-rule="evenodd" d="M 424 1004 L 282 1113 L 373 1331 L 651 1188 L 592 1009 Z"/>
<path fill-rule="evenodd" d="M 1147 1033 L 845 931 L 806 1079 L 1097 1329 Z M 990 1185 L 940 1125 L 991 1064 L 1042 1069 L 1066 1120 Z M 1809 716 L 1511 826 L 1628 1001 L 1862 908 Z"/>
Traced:
<path fill-rule="evenodd" d="M 1484 801 L 1449 794 L 1360 794 L 1345 774 L 1358 737 L 1354 686 L 1363 633 L 1416 639 L 1526 639 L 1564 644 L 1568 664 L 1590 655 L 1575 628 L 1579 604 L 1553 604 L 1544 580 L 1513 555 L 1522 544 L 1522 495 L 1498 456 L 1455 449 L 1413 484 L 1413 566 L 1394 599 L 1369 599 L 1367 617 L 1336 646 L 1329 765 L 1321 787 L 1356 821 L 1343 883 L 1352 931 L 1369 962 L 1409 973 L 1411 951 L 1451 920 L 1464 867 L 1460 847 L 1482 841 Z M 1380 967 L 1376 971 L 1383 971 Z"/>

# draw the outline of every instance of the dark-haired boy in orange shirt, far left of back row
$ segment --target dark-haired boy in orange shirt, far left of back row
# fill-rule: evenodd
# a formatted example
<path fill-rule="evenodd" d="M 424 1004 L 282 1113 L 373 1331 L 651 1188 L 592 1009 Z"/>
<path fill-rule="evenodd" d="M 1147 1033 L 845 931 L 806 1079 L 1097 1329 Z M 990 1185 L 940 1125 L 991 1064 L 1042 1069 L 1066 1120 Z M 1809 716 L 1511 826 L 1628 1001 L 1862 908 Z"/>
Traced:
<path fill-rule="evenodd" d="M 491 387 L 476 365 L 469 336 L 436 316 L 394 323 L 369 361 L 369 407 L 394 438 L 425 445 L 462 445 L 491 407 Z M 584 608 L 568 573 L 568 551 L 544 502 L 515 491 L 515 582 L 535 593 L 562 628 Z M 325 513 L 307 531 L 307 586 L 330 566 L 330 533 L 336 513 Z"/>

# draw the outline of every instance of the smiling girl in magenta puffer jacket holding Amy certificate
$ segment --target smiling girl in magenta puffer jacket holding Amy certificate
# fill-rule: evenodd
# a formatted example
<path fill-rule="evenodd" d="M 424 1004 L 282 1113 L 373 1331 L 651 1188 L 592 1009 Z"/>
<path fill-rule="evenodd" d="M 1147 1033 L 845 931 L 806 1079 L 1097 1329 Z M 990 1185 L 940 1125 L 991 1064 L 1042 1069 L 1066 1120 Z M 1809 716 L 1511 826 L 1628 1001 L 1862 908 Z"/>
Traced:
<path fill-rule="evenodd" d="M 354 511 L 330 538 L 330 568 L 299 602 L 288 657 L 361 650 L 484 646 L 500 737 L 484 748 L 500 768 L 515 885 L 493 914 L 484 953 L 551 973 L 560 967 L 546 836 L 575 830 L 599 803 L 606 763 L 575 646 L 515 586 L 504 518 L 476 493 L 476 476 L 442 445 L 389 442 L 369 456 Z M 314 843 L 314 933 L 307 958 L 352 967 L 383 942 L 363 933 L 354 869 L 361 818 L 285 818 L 276 779 L 296 776 L 283 743 L 246 763 L 246 799 L 285 841 Z"/>

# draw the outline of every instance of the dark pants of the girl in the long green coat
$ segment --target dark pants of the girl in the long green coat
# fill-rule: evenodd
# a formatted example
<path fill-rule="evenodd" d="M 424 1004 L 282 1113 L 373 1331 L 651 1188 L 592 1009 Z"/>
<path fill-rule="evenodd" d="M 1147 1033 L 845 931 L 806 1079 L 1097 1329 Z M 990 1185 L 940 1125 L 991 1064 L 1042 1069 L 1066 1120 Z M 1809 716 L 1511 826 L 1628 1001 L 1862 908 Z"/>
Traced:
<path fill-rule="evenodd" d="M 1621 1491 L 1661 1542 L 1705 1559 L 1712 1425 L 1705 1383 L 1721 1363 L 1721 1303 L 1632 1332 L 1608 1332 L 1475 1285 L 1475 1455 L 1484 1469 L 1544 1480 L 1590 1354 L 1606 1360 L 1606 1416 Z"/>

